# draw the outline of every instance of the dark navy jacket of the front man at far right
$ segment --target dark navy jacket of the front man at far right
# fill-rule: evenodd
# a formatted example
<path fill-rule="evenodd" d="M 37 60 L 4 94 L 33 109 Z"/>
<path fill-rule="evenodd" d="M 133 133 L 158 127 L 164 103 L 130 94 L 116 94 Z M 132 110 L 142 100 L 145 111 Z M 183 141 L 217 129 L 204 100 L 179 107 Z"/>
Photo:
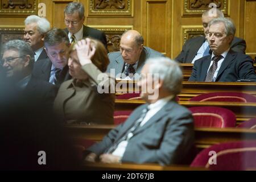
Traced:
<path fill-rule="evenodd" d="M 210 59 L 211 55 L 196 60 L 193 65 L 193 72 L 188 81 L 204 81 L 210 65 Z M 253 60 L 251 60 L 250 56 L 240 52 L 234 52 L 230 49 L 221 64 L 216 81 L 234 82 L 238 79 L 256 81 Z"/>

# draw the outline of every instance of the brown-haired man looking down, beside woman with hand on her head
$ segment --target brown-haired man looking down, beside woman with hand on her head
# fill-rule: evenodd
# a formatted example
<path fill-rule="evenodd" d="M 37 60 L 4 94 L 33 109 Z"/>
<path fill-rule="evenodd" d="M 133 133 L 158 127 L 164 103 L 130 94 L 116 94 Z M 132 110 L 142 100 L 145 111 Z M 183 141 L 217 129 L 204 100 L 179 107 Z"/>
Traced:
<path fill-rule="evenodd" d="M 60 28 L 52 28 L 44 38 L 44 46 L 48 58 L 35 63 L 33 75 L 59 86 L 71 79 L 68 72 L 68 36 Z"/>

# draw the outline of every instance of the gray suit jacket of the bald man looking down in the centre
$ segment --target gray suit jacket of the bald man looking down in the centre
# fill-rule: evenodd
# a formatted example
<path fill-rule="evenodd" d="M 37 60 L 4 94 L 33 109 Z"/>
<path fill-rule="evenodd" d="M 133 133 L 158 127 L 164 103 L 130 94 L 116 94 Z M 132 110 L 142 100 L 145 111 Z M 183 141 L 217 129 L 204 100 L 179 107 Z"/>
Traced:
<path fill-rule="evenodd" d="M 122 73 L 123 67 L 125 66 L 125 61 L 123 60 L 121 53 L 119 51 L 110 52 L 108 56 L 110 63 L 108 65 L 106 72 L 110 73 L 110 69 L 115 69 L 115 76 L 117 76 L 117 74 L 119 73 Z M 141 57 L 139 57 L 136 73 L 141 73 L 141 69 L 148 58 L 160 56 L 164 55 L 158 51 L 155 51 L 154 49 L 144 46 L 141 52 Z"/>

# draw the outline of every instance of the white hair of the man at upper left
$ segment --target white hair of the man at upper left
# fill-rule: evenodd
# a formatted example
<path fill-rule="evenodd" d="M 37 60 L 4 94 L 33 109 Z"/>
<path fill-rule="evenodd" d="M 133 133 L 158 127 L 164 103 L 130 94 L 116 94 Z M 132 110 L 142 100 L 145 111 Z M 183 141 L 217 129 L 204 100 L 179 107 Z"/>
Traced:
<path fill-rule="evenodd" d="M 36 23 L 36 29 L 40 34 L 46 34 L 46 32 L 51 28 L 51 24 L 46 18 L 40 18 L 36 15 L 30 15 L 27 16 L 27 18 L 24 20 L 25 25 L 30 23 Z"/>

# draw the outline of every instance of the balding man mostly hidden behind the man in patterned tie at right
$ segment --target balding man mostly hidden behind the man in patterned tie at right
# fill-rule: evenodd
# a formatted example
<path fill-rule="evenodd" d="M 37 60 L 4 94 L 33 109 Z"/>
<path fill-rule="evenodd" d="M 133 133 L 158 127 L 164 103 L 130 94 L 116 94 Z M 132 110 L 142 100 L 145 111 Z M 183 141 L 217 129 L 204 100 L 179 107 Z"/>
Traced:
<path fill-rule="evenodd" d="M 208 34 L 208 23 L 214 18 L 224 18 L 224 14 L 221 10 L 214 10 L 216 10 L 214 13 L 212 13 L 212 9 L 210 9 L 205 11 L 202 15 L 205 36 L 196 36 L 195 38 L 187 40 L 182 48 L 182 51 L 176 57 L 176 61 L 178 61 L 179 63 L 193 64 L 195 60 L 211 54 L 209 44 L 205 39 Z M 245 53 L 245 40 L 234 37 L 230 44 L 230 48 L 233 49 L 233 51 Z"/>

